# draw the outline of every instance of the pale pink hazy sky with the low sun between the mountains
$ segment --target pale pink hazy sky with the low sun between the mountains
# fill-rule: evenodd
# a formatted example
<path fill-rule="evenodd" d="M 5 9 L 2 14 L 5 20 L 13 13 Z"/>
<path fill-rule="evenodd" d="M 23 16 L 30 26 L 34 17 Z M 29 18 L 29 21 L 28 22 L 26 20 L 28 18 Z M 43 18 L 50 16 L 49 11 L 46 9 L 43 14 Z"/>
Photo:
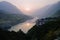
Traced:
<path fill-rule="evenodd" d="M 22 12 L 31 12 L 35 9 L 42 8 L 46 5 L 56 3 L 59 0 L 0 0 L 8 1 L 19 8 Z"/>

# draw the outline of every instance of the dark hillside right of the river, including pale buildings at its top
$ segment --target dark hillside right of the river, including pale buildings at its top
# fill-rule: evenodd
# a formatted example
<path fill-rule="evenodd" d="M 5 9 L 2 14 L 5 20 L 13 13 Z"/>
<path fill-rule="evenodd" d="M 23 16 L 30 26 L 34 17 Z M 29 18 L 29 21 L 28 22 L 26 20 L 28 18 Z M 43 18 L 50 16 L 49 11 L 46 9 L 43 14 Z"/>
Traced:
<path fill-rule="evenodd" d="M 56 11 L 51 17 L 38 19 L 27 36 L 30 40 L 60 40 L 60 11 Z"/>

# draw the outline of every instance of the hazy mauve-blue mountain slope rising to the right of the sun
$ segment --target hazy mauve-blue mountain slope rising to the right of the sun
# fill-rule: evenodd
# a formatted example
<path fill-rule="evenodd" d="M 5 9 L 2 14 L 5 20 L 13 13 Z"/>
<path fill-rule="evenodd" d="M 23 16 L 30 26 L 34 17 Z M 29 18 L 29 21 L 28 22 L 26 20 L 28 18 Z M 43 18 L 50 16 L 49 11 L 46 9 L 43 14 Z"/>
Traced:
<path fill-rule="evenodd" d="M 33 15 L 39 18 L 46 18 L 54 14 L 57 10 L 60 10 L 60 2 L 40 8 L 36 10 Z"/>

